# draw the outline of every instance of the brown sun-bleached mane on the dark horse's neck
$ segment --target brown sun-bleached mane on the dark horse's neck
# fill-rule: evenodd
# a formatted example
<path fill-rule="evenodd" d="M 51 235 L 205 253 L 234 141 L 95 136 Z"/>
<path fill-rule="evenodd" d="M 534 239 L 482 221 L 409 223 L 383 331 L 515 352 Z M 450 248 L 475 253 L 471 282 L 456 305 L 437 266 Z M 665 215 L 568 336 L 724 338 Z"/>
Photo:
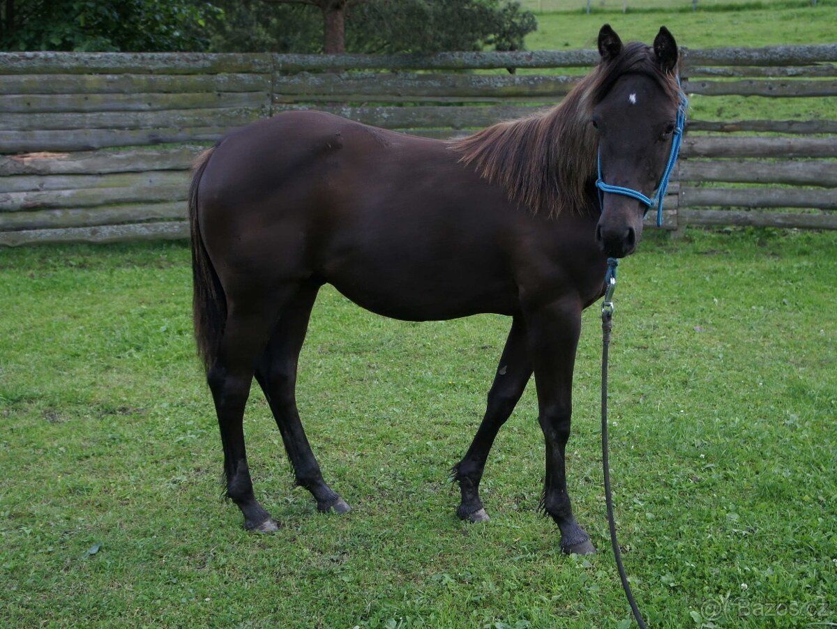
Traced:
<path fill-rule="evenodd" d="M 449 146 L 461 162 L 504 187 L 512 201 L 532 213 L 582 212 L 596 178 L 598 144 L 590 115 L 616 80 L 629 73 L 650 76 L 678 102 L 676 68 L 665 73 L 650 46 L 633 42 L 615 59 L 598 64 L 560 105 L 500 122 Z"/>

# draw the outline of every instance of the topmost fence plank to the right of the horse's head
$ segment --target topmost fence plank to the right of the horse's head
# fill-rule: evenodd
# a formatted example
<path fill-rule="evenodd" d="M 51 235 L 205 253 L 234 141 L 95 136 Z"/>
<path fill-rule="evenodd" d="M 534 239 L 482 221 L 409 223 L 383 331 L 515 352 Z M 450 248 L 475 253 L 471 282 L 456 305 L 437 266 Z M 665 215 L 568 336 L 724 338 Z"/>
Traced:
<path fill-rule="evenodd" d="M 686 69 L 696 65 L 809 65 L 837 61 L 837 43 L 763 48 L 680 49 Z"/>

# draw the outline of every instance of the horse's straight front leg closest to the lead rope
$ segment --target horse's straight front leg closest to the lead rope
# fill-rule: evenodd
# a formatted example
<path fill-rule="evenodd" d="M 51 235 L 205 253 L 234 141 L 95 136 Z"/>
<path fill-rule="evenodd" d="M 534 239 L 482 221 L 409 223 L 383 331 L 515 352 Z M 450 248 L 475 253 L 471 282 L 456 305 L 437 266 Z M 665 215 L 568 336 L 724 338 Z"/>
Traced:
<path fill-rule="evenodd" d="M 580 299 L 564 297 L 550 304 L 538 304 L 526 313 L 526 324 L 535 367 L 538 422 L 547 450 L 543 509 L 561 529 L 561 550 L 586 555 L 596 552 L 596 548 L 573 516 L 564 466 L 581 311 Z"/>

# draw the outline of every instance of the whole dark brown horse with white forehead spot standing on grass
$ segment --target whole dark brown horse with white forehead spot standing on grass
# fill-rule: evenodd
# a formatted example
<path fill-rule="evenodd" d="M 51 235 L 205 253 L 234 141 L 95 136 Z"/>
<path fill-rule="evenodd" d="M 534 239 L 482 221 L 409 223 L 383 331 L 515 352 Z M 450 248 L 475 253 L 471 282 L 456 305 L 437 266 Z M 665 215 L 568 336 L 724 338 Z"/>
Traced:
<path fill-rule="evenodd" d="M 323 480 L 295 402 L 297 356 L 329 283 L 379 315 L 511 317 L 485 417 L 454 476 L 457 513 L 488 519 L 480 478 L 497 431 L 534 371 L 546 442 L 543 508 L 562 550 L 595 549 L 570 507 L 564 449 L 582 310 L 603 294 L 606 258 L 632 253 L 646 195 L 665 167 L 678 107 L 677 47 L 622 45 L 605 25 L 601 63 L 561 105 L 460 141 L 405 136 L 294 112 L 238 130 L 196 162 L 190 192 L 194 320 L 223 443 L 227 495 L 244 526 L 275 530 L 255 499 L 242 428 L 255 376 L 296 481 L 321 511 L 348 504 Z"/>

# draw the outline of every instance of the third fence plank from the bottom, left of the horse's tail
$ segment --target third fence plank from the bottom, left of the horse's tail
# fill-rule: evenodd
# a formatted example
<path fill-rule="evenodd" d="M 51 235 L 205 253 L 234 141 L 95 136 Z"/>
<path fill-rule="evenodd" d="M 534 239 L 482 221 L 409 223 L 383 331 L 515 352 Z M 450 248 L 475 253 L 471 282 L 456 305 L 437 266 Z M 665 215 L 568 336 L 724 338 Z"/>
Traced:
<path fill-rule="evenodd" d="M 80 190 L 44 190 L 39 192 L 0 192 L 0 212 L 33 209 L 94 207 L 116 203 L 183 201 L 188 189 L 180 184 L 118 188 L 82 188 Z"/>

